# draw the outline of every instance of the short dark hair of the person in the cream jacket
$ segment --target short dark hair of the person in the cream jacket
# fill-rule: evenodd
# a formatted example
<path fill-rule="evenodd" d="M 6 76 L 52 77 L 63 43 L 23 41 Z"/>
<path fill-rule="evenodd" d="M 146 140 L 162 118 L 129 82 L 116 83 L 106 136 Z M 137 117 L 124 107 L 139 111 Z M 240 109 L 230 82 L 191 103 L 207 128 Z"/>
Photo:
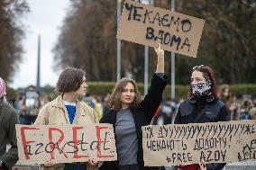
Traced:
<path fill-rule="evenodd" d="M 84 76 L 86 76 L 86 73 L 78 68 L 65 68 L 59 75 L 57 90 L 60 93 L 77 91 L 83 83 Z"/>

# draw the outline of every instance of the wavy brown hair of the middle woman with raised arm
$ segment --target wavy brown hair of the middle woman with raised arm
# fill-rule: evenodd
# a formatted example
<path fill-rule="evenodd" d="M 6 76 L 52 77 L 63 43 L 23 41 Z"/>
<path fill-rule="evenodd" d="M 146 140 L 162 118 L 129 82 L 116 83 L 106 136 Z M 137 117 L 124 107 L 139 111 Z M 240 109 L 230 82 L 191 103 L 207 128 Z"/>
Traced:
<path fill-rule="evenodd" d="M 136 106 L 141 102 L 141 94 L 139 92 L 138 86 L 136 85 L 135 81 L 131 78 L 122 78 L 115 84 L 113 93 L 110 95 L 110 98 L 108 101 L 110 109 L 112 109 L 114 111 L 118 111 L 119 109 L 121 109 L 121 107 L 122 107 L 121 94 L 122 94 L 123 88 L 128 83 L 133 84 L 134 93 L 135 93 L 134 100 L 133 100 L 133 103 L 131 106 L 132 107 Z"/>

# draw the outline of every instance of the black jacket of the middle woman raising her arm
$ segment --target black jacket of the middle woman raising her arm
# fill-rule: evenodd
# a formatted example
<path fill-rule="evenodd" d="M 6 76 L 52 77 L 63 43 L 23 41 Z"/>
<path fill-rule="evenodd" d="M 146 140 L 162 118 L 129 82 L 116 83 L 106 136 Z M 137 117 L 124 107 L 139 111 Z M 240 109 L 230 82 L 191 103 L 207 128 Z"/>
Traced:
<path fill-rule="evenodd" d="M 130 108 L 131 112 L 133 113 L 133 118 L 134 118 L 137 137 L 138 137 L 137 161 L 138 161 L 140 170 L 154 169 L 154 167 L 144 167 L 143 150 L 142 150 L 142 126 L 146 126 L 151 123 L 151 119 L 161 103 L 162 93 L 166 85 L 167 85 L 166 76 L 161 78 L 160 76 L 157 76 L 156 74 L 154 74 L 151 80 L 151 87 L 149 88 L 148 94 L 145 95 L 144 100 L 139 104 L 138 107 Z M 110 112 L 107 112 L 100 120 L 100 123 L 113 124 L 114 131 L 115 131 L 115 122 L 116 122 L 116 112 L 113 110 Z M 100 166 L 99 169 L 100 170 L 118 170 L 118 161 L 105 161 L 103 165 Z"/>

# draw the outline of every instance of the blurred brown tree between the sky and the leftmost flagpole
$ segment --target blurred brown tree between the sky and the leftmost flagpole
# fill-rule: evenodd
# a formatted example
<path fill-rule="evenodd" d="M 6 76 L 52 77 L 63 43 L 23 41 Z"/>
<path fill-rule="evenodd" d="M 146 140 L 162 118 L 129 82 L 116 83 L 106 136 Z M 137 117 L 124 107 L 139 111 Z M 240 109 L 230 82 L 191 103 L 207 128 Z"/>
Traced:
<path fill-rule="evenodd" d="M 115 73 L 114 1 L 73 0 L 72 6 L 53 49 L 58 68 L 82 68 L 90 80 L 112 79 Z"/>

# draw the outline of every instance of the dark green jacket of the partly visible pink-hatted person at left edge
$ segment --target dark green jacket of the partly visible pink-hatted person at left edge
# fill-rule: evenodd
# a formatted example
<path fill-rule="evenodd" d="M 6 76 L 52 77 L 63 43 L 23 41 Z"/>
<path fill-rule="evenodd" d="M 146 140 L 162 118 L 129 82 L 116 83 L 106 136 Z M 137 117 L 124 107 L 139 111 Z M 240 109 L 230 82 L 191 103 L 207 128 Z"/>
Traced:
<path fill-rule="evenodd" d="M 14 108 L 0 99 L 0 160 L 7 169 L 11 169 L 19 158 L 15 130 L 17 123 L 18 115 Z M 11 144 L 11 148 L 6 152 L 8 143 Z"/>

